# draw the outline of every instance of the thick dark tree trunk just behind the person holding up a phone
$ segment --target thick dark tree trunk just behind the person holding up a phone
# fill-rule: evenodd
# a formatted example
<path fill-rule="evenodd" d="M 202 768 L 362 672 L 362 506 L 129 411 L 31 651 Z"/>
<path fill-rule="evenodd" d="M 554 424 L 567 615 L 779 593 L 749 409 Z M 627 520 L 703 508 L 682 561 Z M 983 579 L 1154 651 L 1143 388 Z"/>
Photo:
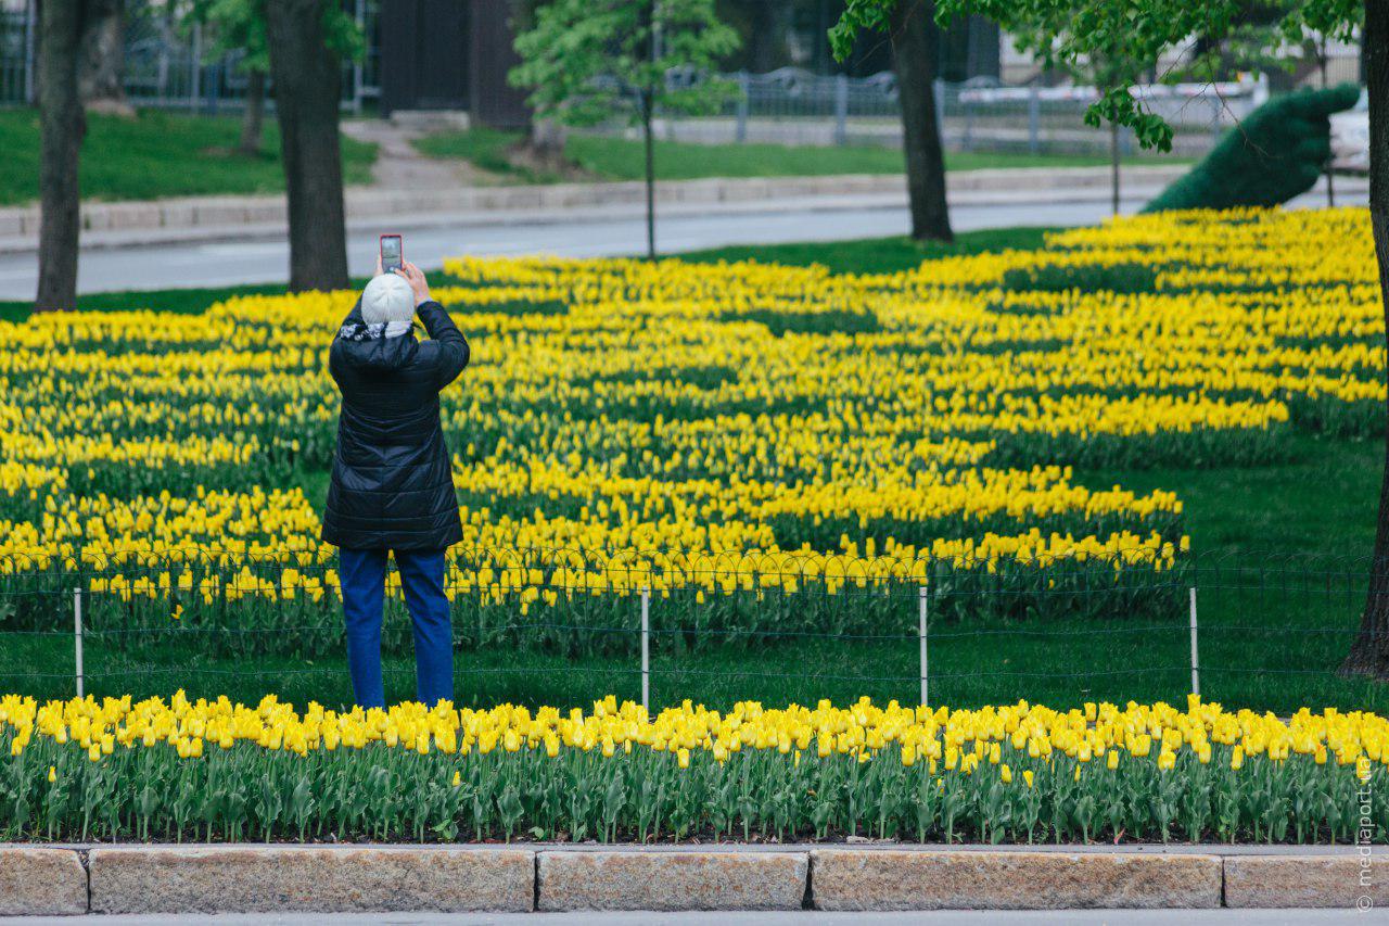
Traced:
<path fill-rule="evenodd" d="M 338 136 L 342 67 L 325 43 L 324 3 L 269 0 L 275 111 L 289 199 L 289 288 L 347 286 L 347 229 Z"/>

